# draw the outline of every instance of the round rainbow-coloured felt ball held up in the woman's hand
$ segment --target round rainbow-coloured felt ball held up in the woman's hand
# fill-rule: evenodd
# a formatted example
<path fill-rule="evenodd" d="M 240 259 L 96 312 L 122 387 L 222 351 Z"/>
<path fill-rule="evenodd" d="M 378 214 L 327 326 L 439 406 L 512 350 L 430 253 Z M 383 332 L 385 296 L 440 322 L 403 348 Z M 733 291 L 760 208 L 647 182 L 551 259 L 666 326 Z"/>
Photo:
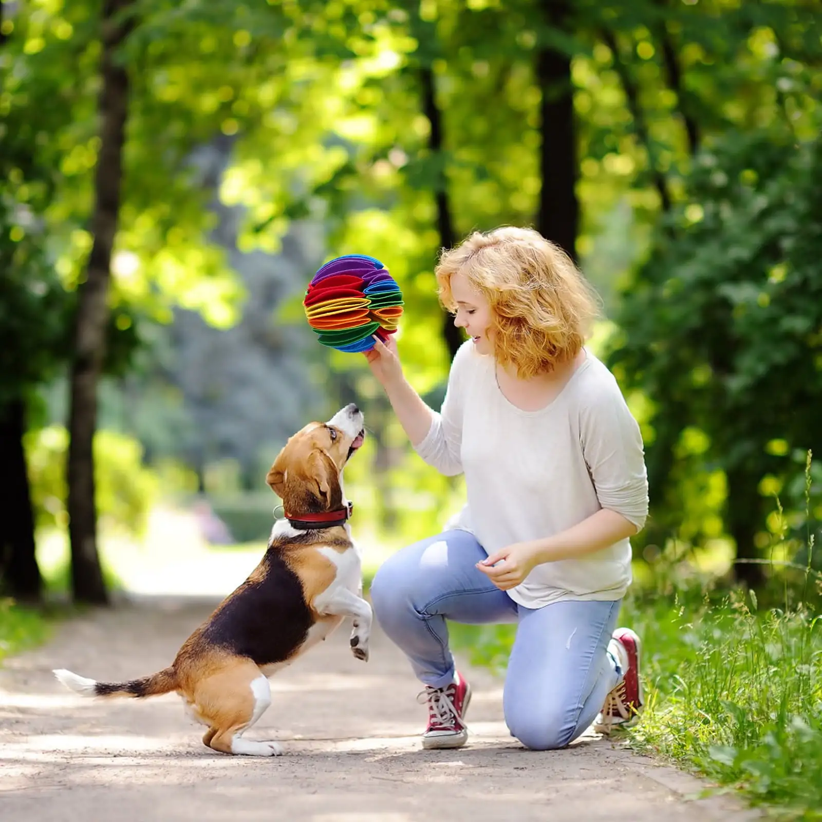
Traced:
<path fill-rule="evenodd" d="M 368 351 L 374 335 L 385 340 L 397 330 L 403 294 L 379 260 L 346 254 L 316 272 L 302 305 L 321 344 L 338 351 Z"/>

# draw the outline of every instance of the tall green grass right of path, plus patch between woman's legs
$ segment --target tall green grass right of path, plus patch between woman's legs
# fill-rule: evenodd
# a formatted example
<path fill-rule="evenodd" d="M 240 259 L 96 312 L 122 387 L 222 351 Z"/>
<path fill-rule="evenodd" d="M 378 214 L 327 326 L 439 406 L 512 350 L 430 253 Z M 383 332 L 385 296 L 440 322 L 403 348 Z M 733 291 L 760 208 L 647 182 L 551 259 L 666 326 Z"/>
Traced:
<path fill-rule="evenodd" d="M 631 745 L 736 787 L 779 819 L 822 820 L 822 617 L 754 597 L 628 598 L 646 708 Z M 513 626 L 451 626 L 473 663 L 503 671 Z"/>

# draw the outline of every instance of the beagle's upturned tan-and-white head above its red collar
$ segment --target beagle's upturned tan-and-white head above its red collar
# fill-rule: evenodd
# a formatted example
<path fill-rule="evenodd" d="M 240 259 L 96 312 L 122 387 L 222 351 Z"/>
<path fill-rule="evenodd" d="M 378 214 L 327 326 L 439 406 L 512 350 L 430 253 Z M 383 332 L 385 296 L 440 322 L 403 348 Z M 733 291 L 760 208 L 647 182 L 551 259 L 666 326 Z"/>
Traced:
<path fill-rule="evenodd" d="M 305 514 L 344 506 L 341 477 L 349 457 L 363 445 L 363 412 L 346 405 L 327 423 L 308 423 L 289 438 L 266 482 L 286 510 Z"/>

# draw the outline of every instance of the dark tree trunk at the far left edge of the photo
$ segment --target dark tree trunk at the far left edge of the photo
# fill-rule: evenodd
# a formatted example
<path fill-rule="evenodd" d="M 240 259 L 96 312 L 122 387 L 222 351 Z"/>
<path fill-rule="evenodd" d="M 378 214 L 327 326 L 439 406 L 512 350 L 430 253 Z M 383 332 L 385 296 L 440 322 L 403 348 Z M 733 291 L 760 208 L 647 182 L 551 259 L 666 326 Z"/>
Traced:
<path fill-rule="evenodd" d="M 0 465 L 5 479 L 0 493 L 0 577 L 13 597 L 37 601 L 43 593 L 43 580 L 35 555 L 35 516 L 23 450 L 24 433 L 24 400 L 14 399 L 0 406 Z"/>

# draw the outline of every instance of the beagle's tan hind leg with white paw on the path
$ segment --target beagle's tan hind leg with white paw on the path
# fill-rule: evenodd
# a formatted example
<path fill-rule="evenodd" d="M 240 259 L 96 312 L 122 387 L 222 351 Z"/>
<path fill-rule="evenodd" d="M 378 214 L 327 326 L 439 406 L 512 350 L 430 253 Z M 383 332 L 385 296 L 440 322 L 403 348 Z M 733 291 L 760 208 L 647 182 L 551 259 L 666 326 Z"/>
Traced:
<path fill-rule="evenodd" d="M 196 688 L 201 716 L 210 727 L 205 745 L 225 754 L 279 756 L 279 742 L 243 739 L 242 734 L 266 712 L 271 689 L 266 677 L 252 662 L 235 666 L 205 679 Z"/>

